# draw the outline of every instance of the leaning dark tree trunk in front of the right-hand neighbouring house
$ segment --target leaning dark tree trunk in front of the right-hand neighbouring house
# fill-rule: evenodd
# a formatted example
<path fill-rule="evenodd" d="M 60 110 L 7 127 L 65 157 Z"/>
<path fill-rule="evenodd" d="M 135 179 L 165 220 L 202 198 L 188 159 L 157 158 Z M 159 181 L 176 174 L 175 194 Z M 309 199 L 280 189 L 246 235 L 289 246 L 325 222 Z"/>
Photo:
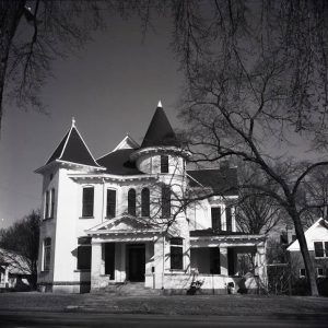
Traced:
<path fill-rule="evenodd" d="M 313 265 L 313 261 L 311 260 L 303 226 L 301 223 L 301 218 L 297 214 L 296 210 L 292 210 L 290 212 L 290 215 L 293 219 L 294 226 L 295 226 L 295 233 L 297 241 L 300 243 L 300 249 L 301 254 L 303 257 L 304 266 L 305 266 L 305 271 L 307 274 L 308 283 L 309 283 L 309 289 L 311 289 L 311 294 L 313 296 L 318 296 L 318 288 L 317 288 L 317 281 L 316 281 L 316 273 L 315 273 L 315 268 Z"/>

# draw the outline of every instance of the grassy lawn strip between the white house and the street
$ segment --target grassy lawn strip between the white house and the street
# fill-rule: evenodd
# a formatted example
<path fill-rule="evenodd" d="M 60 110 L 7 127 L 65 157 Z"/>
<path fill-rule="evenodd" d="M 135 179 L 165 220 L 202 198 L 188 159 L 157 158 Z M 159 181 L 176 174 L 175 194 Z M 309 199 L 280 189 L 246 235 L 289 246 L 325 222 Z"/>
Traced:
<path fill-rule="evenodd" d="M 327 314 L 327 297 L 265 295 L 112 296 L 108 294 L 0 294 L 0 312 L 266 316 Z"/>

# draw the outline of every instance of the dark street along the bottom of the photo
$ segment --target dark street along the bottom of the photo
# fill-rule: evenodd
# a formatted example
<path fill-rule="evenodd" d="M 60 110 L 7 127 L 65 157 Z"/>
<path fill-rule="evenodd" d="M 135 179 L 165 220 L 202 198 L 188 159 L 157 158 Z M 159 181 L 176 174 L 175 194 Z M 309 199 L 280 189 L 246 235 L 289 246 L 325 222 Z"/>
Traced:
<path fill-rule="evenodd" d="M 327 327 L 328 315 L 164 316 L 0 312 L 1 327 Z"/>

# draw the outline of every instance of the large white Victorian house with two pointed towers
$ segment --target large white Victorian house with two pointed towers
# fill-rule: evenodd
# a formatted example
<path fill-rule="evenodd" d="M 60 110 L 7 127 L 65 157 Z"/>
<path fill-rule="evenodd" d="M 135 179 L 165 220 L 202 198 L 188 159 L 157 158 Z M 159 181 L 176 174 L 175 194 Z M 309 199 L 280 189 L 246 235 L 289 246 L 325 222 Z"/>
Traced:
<path fill-rule="evenodd" d="M 203 291 L 226 293 L 229 283 L 242 280 L 239 255 L 249 253 L 255 278 L 244 284 L 265 286 L 266 237 L 236 227 L 236 168 L 188 171 L 189 156 L 161 103 L 141 145 L 127 136 L 97 160 L 73 120 L 36 171 L 44 213 L 39 290 L 85 292 L 139 281 L 175 291 L 197 280 Z M 178 211 L 188 195 L 211 190 L 221 196 Z"/>

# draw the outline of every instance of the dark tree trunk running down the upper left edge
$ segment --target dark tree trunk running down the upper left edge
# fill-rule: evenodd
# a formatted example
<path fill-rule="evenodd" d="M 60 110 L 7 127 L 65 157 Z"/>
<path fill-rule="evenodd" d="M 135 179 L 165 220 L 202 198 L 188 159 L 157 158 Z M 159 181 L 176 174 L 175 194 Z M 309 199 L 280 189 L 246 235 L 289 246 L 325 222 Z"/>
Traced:
<path fill-rule="evenodd" d="M 25 0 L 0 0 L 0 131 L 3 114 L 3 90 L 9 50 L 19 22 L 24 12 Z"/>

